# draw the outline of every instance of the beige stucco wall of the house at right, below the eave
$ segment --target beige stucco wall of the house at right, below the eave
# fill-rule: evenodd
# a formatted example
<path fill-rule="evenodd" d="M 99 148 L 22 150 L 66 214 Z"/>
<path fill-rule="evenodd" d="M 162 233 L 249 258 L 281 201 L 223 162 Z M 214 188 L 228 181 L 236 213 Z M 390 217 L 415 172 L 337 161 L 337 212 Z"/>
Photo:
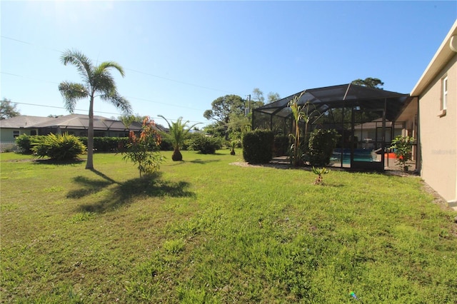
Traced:
<path fill-rule="evenodd" d="M 446 115 L 440 117 L 441 79 L 448 77 Z M 448 202 L 457 202 L 457 54 L 419 96 L 421 176 Z"/>

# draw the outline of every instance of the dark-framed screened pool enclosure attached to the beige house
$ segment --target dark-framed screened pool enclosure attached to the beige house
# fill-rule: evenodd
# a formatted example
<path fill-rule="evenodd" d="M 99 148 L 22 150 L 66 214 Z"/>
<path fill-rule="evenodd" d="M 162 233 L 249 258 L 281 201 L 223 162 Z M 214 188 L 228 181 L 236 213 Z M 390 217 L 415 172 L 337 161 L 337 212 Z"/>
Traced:
<path fill-rule="evenodd" d="M 303 137 L 305 130 L 311 133 L 316 128 L 338 131 L 331 166 L 383 170 L 389 161 L 393 164 L 388 148 L 405 127 L 396 117 L 411 101 L 409 94 L 351 83 L 311 88 L 253 109 L 253 129 L 272 130 L 277 136 L 293 133 L 294 120 L 288 106 L 293 98 L 299 98 L 298 105 L 309 118 L 308 123 L 300 121 Z M 275 151 L 286 155 L 287 148 L 275 147 Z"/>

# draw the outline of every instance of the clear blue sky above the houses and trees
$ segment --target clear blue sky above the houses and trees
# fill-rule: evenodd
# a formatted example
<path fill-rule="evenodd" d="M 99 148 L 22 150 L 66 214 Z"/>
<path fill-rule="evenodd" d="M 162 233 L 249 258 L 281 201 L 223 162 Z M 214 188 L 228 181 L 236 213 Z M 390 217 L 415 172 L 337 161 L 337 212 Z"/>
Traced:
<path fill-rule="evenodd" d="M 116 82 L 134 113 L 207 124 L 214 99 L 253 88 L 286 97 L 376 77 L 409 93 L 457 1 L 1 1 L 0 10 L 0 98 L 21 114 L 68 114 L 57 86 L 80 78 L 59 58 L 78 49 L 124 67 Z M 95 111 L 120 115 L 100 100 Z"/>

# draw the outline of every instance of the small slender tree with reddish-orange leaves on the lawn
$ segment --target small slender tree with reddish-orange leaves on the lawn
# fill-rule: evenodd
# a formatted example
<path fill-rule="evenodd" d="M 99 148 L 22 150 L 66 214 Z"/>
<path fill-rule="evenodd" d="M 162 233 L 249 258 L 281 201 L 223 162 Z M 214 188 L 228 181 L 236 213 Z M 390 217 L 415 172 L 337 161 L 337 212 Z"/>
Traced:
<path fill-rule="evenodd" d="M 164 157 L 159 153 L 161 137 L 156 131 L 156 124 L 149 117 L 143 120 L 143 129 L 140 136 L 137 137 L 134 131 L 129 133 L 129 143 L 122 151 L 122 159 L 129 159 L 138 164 L 140 178 L 143 174 L 150 174 L 158 171 Z"/>

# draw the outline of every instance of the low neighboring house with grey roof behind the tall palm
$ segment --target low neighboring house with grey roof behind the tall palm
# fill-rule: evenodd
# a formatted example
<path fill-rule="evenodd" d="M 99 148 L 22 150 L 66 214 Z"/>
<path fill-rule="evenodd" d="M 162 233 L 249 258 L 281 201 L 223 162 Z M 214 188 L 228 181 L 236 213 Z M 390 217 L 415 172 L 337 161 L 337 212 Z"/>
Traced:
<path fill-rule="evenodd" d="M 22 134 L 69 133 L 75 136 L 87 136 L 88 128 L 89 116 L 87 115 L 71 114 L 57 118 L 16 116 L 0 121 L 0 141 L 11 142 Z M 94 116 L 94 136 L 125 137 L 129 136 L 129 131 L 141 131 L 141 123 L 135 121 L 126 127 L 122 121 Z"/>

